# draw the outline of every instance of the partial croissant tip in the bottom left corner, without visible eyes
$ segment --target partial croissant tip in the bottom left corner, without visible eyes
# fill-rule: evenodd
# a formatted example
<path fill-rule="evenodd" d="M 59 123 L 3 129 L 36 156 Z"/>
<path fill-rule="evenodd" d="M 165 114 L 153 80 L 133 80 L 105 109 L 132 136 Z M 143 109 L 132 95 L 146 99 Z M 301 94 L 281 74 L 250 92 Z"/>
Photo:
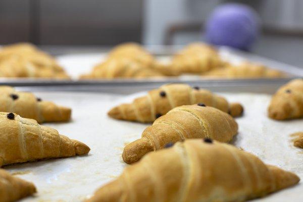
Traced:
<path fill-rule="evenodd" d="M 13 177 L 7 171 L 0 169 L 0 202 L 11 202 L 36 192 L 34 184 Z"/>

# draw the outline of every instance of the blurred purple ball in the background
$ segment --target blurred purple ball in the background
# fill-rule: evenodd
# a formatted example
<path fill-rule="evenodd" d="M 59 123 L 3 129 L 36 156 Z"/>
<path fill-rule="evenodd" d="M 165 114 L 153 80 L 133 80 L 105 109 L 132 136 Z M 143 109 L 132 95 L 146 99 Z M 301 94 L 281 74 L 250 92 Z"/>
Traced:
<path fill-rule="evenodd" d="M 214 45 L 247 51 L 259 35 L 259 16 L 242 4 L 224 4 L 215 9 L 206 24 L 206 38 Z"/>

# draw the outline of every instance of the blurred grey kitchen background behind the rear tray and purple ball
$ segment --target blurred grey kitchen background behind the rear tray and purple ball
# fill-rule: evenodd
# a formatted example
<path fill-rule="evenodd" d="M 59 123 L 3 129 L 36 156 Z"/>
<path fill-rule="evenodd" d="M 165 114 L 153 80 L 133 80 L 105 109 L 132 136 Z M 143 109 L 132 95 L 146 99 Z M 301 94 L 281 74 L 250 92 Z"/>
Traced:
<path fill-rule="evenodd" d="M 260 18 L 252 53 L 301 66 L 301 0 L 0 0 L 0 44 L 28 41 L 53 55 L 125 41 L 187 44 L 206 40 L 207 19 L 230 2 L 250 6 Z"/>

